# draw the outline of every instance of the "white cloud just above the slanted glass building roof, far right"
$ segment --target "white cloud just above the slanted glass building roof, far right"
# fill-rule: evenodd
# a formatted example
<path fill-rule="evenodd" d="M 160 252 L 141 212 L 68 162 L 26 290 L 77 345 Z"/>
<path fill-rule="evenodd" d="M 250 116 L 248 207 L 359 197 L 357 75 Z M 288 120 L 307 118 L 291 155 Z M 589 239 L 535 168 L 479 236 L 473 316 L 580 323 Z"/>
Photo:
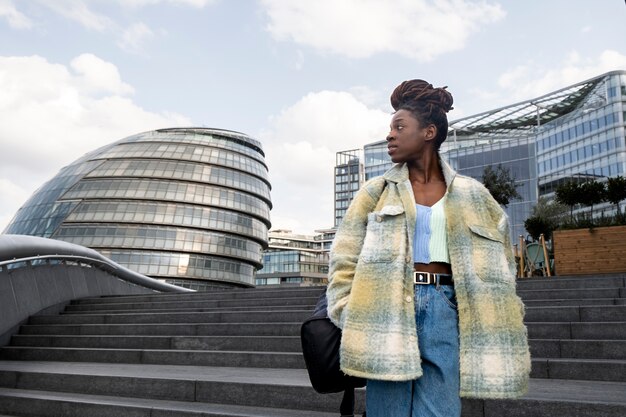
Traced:
<path fill-rule="evenodd" d="M 501 96 L 508 103 L 542 96 L 559 88 L 593 78 L 609 71 L 626 69 L 626 55 L 605 50 L 596 57 L 583 58 L 576 51 L 556 67 L 530 62 L 502 74 L 498 79 Z"/>

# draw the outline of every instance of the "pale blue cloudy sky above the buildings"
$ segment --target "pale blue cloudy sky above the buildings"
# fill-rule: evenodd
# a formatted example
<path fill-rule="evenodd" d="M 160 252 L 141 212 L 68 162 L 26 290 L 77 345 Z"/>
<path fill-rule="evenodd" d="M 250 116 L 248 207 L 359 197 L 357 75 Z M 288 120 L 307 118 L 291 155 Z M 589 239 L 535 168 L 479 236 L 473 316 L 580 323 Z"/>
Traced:
<path fill-rule="evenodd" d="M 451 120 L 626 69 L 622 0 L 0 0 L 0 230 L 85 152 L 208 126 L 263 142 L 273 228 L 332 226 L 335 152 L 422 78 Z"/>

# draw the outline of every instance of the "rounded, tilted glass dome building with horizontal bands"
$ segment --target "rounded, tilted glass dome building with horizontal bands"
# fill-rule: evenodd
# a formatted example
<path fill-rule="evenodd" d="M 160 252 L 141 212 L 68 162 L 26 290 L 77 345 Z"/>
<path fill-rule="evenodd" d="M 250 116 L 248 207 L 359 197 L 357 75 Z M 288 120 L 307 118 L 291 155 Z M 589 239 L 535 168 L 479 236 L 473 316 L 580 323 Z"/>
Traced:
<path fill-rule="evenodd" d="M 187 288 L 253 286 L 270 189 L 260 142 L 228 130 L 160 129 L 61 169 L 4 233 L 87 246 Z"/>

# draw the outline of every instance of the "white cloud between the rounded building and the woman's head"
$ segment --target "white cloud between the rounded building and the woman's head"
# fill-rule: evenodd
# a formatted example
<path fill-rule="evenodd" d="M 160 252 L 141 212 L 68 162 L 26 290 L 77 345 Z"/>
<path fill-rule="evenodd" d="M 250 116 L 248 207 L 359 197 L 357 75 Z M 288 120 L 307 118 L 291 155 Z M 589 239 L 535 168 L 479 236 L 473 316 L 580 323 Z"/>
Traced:
<path fill-rule="evenodd" d="M 312 233 L 333 225 L 335 153 L 383 139 L 390 115 L 347 92 L 310 93 L 260 137 L 270 167 L 273 228 Z"/>

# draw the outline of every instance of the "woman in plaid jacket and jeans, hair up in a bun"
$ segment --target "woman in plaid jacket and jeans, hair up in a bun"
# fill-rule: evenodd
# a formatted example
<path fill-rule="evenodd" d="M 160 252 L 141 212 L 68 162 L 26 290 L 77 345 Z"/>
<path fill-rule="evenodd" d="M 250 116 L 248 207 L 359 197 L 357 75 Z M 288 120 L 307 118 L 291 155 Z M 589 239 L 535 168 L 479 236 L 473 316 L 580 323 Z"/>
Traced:
<path fill-rule="evenodd" d="M 331 249 L 328 312 L 342 370 L 368 380 L 368 417 L 458 417 L 460 397 L 527 390 L 507 216 L 439 156 L 452 103 L 423 80 L 396 87 L 396 165 L 361 187 Z"/>

